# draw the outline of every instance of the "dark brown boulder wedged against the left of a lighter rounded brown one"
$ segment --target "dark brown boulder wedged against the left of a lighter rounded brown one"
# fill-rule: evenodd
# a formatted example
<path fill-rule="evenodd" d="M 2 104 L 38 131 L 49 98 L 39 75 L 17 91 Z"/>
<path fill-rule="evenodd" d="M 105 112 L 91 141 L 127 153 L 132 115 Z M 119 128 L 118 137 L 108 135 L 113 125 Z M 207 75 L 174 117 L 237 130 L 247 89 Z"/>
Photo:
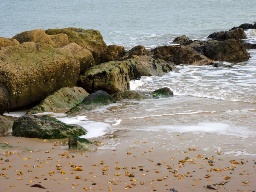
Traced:
<path fill-rule="evenodd" d="M 162 59 L 166 62 L 173 62 L 173 58 L 175 53 L 180 49 L 180 45 L 164 45 L 159 46 L 154 49 L 154 56 L 155 59 Z"/>

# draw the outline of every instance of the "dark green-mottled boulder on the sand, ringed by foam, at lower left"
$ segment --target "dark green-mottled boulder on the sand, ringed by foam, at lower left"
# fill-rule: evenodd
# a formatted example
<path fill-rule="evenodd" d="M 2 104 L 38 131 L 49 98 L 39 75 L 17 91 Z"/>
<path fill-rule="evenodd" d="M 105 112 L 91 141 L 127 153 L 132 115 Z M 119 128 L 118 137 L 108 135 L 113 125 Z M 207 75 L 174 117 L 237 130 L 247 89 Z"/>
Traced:
<path fill-rule="evenodd" d="M 44 115 L 25 115 L 14 121 L 12 136 L 40 139 L 64 139 L 85 135 L 86 130 L 80 125 L 65 124 Z"/>

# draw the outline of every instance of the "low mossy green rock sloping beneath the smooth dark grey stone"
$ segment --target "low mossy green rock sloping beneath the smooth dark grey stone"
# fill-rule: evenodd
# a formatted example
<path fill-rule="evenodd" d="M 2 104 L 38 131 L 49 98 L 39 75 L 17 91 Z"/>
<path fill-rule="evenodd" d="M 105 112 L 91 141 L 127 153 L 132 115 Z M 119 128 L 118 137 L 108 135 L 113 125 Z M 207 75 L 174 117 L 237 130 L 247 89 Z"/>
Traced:
<path fill-rule="evenodd" d="M 100 94 L 98 96 L 96 95 L 96 98 L 92 100 L 77 104 L 75 107 L 67 111 L 66 114 L 75 116 L 81 114 L 82 112 L 90 111 L 98 107 L 109 105 L 111 103 L 116 103 L 116 101 L 110 95 Z"/>

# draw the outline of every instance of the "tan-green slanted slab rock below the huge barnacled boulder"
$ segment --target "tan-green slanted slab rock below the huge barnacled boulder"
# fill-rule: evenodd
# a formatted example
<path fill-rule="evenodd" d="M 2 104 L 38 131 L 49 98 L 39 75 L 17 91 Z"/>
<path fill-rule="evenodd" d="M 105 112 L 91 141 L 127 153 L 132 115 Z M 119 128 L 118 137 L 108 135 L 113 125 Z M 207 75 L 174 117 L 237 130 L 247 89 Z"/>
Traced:
<path fill-rule="evenodd" d="M 87 93 L 82 87 L 63 87 L 47 96 L 39 105 L 29 109 L 27 114 L 48 112 L 53 109 L 70 109 L 82 102 Z"/>

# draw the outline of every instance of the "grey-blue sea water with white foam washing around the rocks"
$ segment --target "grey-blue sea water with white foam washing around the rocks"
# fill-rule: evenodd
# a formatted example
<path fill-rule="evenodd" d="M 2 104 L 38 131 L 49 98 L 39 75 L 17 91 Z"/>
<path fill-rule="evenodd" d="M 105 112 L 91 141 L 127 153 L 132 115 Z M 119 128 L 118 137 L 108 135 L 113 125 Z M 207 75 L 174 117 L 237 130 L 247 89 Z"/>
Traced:
<path fill-rule="evenodd" d="M 252 23 L 256 20 L 254 4 L 254 0 L 0 0 L 0 36 L 12 37 L 36 28 L 93 28 L 101 32 L 107 45 L 124 45 L 129 49 L 141 44 L 154 48 L 172 44 L 180 35 L 206 40 L 213 32 Z M 248 29 L 245 34 L 248 39 L 244 42 L 256 43 L 255 29 Z M 252 142 L 256 136 L 256 51 L 247 51 L 251 56 L 248 61 L 220 62 L 219 68 L 179 65 L 164 76 L 141 77 L 130 82 L 130 90 L 152 92 L 169 87 L 173 96 L 118 101 L 71 117 L 44 114 L 83 126 L 88 131 L 84 138 L 111 138 L 120 131 L 131 132 L 134 139 L 137 132 L 143 132 L 145 139 L 164 135 L 169 140 L 176 133 L 191 134 L 211 141 L 205 150 L 226 147 L 239 155 L 249 154 L 247 149 L 253 155 L 256 154 Z M 109 139 L 104 147 L 114 148 L 120 143 Z"/>

